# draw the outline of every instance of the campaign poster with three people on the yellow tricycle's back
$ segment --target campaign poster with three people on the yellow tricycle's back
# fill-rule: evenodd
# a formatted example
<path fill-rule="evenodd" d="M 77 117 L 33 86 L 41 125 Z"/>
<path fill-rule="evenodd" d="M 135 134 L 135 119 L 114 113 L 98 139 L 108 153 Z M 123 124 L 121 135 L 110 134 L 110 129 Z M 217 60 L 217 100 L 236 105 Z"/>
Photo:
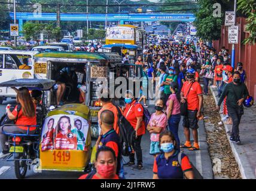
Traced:
<path fill-rule="evenodd" d="M 45 119 L 41 150 L 84 150 L 88 121 L 75 115 L 54 115 Z"/>

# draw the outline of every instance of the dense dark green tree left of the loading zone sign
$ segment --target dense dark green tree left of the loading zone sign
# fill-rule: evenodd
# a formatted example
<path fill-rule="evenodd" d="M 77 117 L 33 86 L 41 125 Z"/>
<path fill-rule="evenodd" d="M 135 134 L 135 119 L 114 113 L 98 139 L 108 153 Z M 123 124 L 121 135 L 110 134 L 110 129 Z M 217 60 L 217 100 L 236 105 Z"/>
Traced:
<path fill-rule="evenodd" d="M 197 36 L 206 41 L 218 40 L 221 37 L 221 24 L 224 18 L 223 14 L 221 18 L 213 16 L 215 2 L 214 0 L 199 0 L 200 8 L 194 11 Z"/>

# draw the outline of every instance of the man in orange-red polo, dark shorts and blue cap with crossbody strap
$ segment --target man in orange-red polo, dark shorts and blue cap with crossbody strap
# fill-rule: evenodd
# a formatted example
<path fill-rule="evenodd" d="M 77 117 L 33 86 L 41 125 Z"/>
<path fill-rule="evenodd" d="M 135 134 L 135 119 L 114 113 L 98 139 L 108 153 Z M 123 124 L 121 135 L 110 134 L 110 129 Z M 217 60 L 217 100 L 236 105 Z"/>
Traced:
<path fill-rule="evenodd" d="M 193 69 L 187 70 L 188 81 L 184 82 L 181 89 L 181 102 L 185 103 L 187 100 L 187 115 L 183 118 L 184 134 L 186 142 L 181 148 L 188 148 L 189 150 L 199 150 L 198 144 L 198 118 L 202 116 L 203 93 L 199 82 L 194 80 L 195 71 Z M 190 128 L 192 129 L 194 137 L 194 145 L 190 143 Z"/>

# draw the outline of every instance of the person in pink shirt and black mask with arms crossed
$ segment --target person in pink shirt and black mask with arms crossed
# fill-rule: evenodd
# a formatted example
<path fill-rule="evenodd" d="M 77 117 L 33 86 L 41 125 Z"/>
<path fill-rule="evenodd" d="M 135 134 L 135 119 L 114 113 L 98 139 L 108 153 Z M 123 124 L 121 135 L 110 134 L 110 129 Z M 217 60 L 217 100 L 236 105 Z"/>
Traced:
<path fill-rule="evenodd" d="M 156 158 L 160 154 L 159 147 L 159 135 L 161 131 L 166 128 L 167 118 L 163 112 L 164 101 L 157 100 L 155 109 L 156 112 L 151 115 L 150 121 L 148 122 L 147 130 L 150 132 L 150 155 Z"/>

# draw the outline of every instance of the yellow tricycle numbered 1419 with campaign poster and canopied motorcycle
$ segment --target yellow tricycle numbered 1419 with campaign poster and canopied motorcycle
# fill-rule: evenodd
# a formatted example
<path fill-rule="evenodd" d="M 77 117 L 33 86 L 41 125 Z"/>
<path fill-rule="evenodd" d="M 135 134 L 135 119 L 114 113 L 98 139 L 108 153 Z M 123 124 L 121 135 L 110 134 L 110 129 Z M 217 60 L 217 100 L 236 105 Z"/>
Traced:
<path fill-rule="evenodd" d="M 43 92 L 40 104 L 42 113 L 36 112 L 39 116 L 37 125 L 22 125 L 28 127 L 26 134 L 5 132 L 13 124 L 2 126 L 3 134 L 8 136 L 5 144 L 10 148 L 10 154 L 2 160 L 14 161 L 17 178 L 25 178 L 28 168 L 30 170 L 32 166 L 34 172 L 84 172 L 91 168 L 90 109 L 84 104 L 75 103 L 48 109 L 44 91 L 51 90 L 54 84 L 55 81 L 48 79 L 16 79 L 0 84 L 1 87 L 26 87 L 31 91 Z M 36 127 L 33 134 L 29 133 L 32 127 Z"/>

